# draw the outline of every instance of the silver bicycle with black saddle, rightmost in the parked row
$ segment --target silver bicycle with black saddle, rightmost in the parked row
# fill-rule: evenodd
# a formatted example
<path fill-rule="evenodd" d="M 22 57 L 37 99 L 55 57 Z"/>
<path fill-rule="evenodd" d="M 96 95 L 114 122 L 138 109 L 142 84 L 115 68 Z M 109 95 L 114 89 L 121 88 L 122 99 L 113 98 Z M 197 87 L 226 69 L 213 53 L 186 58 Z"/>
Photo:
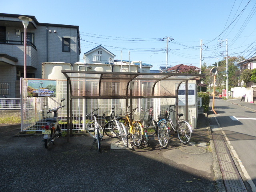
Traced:
<path fill-rule="evenodd" d="M 191 136 L 192 136 L 192 128 L 190 126 L 190 124 L 184 120 L 184 119 L 180 119 L 180 117 L 183 116 L 182 113 L 178 113 L 178 123 L 174 124 L 172 122 L 172 118 L 170 118 L 170 113 L 174 112 L 176 113 L 176 111 L 172 108 L 172 106 L 174 105 L 170 105 L 165 112 L 165 118 L 166 121 L 168 121 L 168 126 L 170 127 L 169 133 L 174 130 L 174 132 L 178 133 L 178 138 L 182 143 L 187 144 L 188 142 L 190 142 Z"/>

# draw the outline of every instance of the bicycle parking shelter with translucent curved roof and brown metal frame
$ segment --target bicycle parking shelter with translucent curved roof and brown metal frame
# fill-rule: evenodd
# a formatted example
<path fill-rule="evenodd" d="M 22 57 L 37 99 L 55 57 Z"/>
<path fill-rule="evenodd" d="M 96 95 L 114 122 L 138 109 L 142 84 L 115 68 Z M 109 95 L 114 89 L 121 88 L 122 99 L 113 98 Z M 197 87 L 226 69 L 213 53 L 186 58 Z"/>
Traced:
<path fill-rule="evenodd" d="M 130 73 L 62 70 L 67 78 L 67 138 L 72 133 L 72 99 L 125 99 L 126 108 L 130 100 L 138 98 L 176 98 L 178 112 L 178 88 L 186 85 L 186 119 L 188 119 L 188 80 L 204 77 L 205 74 L 184 73 Z M 144 84 L 150 82 L 150 91 L 144 92 Z M 89 90 L 91 84 L 96 89 Z"/>

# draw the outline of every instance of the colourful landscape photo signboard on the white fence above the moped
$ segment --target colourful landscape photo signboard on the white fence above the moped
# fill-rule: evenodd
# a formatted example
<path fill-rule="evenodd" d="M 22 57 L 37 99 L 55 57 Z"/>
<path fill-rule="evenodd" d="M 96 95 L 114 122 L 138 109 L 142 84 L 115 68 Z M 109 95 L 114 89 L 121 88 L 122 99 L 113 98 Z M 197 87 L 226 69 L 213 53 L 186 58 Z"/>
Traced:
<path fill-rule="evenodd" d="M 28 97 L 56 97 L 56 81 L 28 80 Z"/>

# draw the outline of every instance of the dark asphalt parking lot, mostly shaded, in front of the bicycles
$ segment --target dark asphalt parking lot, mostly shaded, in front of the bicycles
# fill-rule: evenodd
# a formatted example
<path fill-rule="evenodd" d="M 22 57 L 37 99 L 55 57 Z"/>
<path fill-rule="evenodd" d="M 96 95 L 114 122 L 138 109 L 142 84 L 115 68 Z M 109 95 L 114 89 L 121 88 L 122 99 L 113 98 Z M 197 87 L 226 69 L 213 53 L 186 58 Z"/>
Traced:
<path fill-rule="evenodd" d="M 212 153 L 186 153 L 175 138 L 167 149 L 152 138 L 148 148 L 110 150 L 117 140 L 104 136 L 99 153 L 89 136 L 45 149 L 42 136 L 14 137 L 18 131 L 0 127 L 1 192 L 216 191 Z"/>

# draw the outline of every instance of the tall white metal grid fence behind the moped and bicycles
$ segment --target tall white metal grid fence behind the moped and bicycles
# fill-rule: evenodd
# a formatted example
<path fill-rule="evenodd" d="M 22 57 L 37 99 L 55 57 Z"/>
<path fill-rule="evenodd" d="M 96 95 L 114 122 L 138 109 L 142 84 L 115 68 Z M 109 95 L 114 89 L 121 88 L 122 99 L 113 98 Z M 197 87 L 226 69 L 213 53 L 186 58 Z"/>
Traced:
<path fill-rule="evenodd" d="M 43 79 L 42 79 L 43 80 Z M 72 82 L 73 88 L 79 90 L 79 82 Z M 90 85 L 91 92 L 94 92 L 96 84 Z M 107 89 L 107 88 L 106 88 Z M 72 90 L 74 91 L 74 90 Z M 150 86 L 144 85 L 144 92 L 150 91 Z M 67 81 L 56 80 L 56 97 L 31 97 L 28 96 L 28 79 L 22 79 L 22 131 L 40 131 L 46 118 L 52 117 L 53 114 L 47 114 L 48 110 L 44 108 L 47 105 L 53 108 L 60 105 L 61 98 L 65 98 L 62 105 L 67 105 Z M 133 108 L 138 107 L 138 110 L 148 110 L 153 105 L 154 99 L 133 99 Z M 128 100 L 128 103 L 129 100 Z M 92 117 L 86 117 L 86 114 L 91 110 L 99 108 L 97 111 L 98 121 L 102 126 L 105 125 L 104 112 L 110 111 L 111 107 L 115 106 L 117 115 L 125 116 L 126 109 L 125 99 L 73 99 L 72 100 L 72 123 L 73 130 L 85 130 L 86 122 Z M 67 130 L 67 109 L 58 110 L 60 126 L 63 130 Z"/>

